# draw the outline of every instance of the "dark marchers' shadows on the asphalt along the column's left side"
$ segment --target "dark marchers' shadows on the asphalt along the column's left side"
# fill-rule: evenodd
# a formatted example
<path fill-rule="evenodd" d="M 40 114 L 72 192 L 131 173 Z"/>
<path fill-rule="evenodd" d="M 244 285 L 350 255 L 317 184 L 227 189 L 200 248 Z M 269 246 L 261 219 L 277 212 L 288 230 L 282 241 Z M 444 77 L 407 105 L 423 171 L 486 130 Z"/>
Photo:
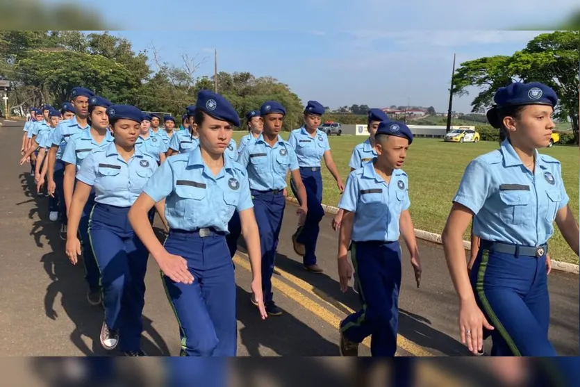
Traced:
<path fill-rule="evenodd" d="M 51 222 L 48 218 L 48 198 L 35 192 L 34 178 L 30 174 L 22 174 L 25 195 L 35 198 L 38 220 L 33 223 L 31 236 L 38 247 L 49 250 L 40 258 L 44 271 L 51 280 L 44 295 L 44 312 L 47 318 L 56 321 L 63 316 L 55 311 L 54 304 L 60 295 L 60 304 L 65 314 L 74 324 L 69 340 L 85 356 L 108 356 L 119 354 L 118 350 L 108 352 L 101 346 L 100 333 L 104 313 L 101 306 L 91 306 L 86 298 L 88 284 L 85 281 L 85 267 L 81 257 L 76 265 L 72 265 L 65 255 L 65 241 L 60 239 L 60 222 Z M 31 192 L 34 190 L 34 192 Z M 44 246 L 42 238 L 47 240 Z M 141 336 L 142 349 L 151 356 L 169 355 L 169 348 L 158 331 L 151 325 L 151 320 L 143 316 L 143 333 L 147 333 L 153 341 Z M 83 338 L 90 340 L 90 345 Z"/>

